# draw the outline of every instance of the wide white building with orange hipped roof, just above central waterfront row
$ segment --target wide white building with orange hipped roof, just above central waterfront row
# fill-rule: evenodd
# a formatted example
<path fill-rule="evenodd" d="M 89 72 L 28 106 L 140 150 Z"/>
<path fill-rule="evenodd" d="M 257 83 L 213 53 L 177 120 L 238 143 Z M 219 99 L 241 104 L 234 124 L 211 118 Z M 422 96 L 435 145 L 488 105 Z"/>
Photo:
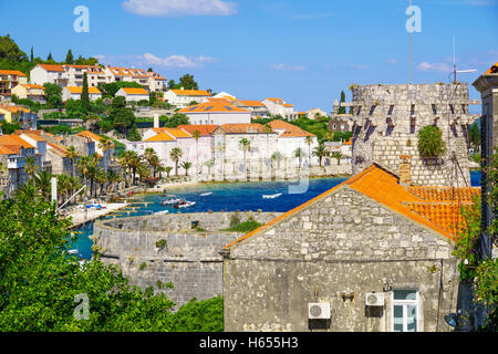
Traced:
<path fill-rule="evenodd" d="M 249 124 L 251 123 L 251 113 L 249 111 L 236 107 L 229 103 L 208 101 L 186 107 L 178 111 L 187 115 L 189 122 L 194 125 L 222 125 L 222 124 Z"/>

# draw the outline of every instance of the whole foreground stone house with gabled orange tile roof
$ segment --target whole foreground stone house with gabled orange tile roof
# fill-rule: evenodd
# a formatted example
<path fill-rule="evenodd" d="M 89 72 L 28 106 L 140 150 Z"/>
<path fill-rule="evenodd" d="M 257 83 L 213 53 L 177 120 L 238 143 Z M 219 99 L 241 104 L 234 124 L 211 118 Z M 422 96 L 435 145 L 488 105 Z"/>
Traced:
<path fill-rule="evenodd" d="M 227 244 L 225 330 L 450 331 L 453 191 L 405 187 L 374 164 Z M 479 189 L 457 192 L 468 204 Z"/>

